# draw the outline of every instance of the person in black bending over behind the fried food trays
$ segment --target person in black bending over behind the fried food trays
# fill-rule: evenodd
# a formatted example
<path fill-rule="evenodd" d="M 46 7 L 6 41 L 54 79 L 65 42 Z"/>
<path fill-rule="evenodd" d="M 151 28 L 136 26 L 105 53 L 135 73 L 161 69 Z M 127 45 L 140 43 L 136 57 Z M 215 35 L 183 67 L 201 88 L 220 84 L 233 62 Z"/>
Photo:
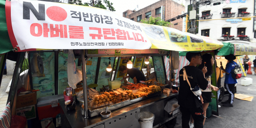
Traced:
<path fill-rule="evenodd" d="M 126 78 L 132 78 L 134 83 L 140 83 L 140 81 L 146 81 L 146 78 L 144 74 L 138 68 L 127 68 L 126 66 L 120 66 L 119 71 L 122 72 L 123 74 L 128 74 L 128 76 L 123 76 L 123 79 Z"/>

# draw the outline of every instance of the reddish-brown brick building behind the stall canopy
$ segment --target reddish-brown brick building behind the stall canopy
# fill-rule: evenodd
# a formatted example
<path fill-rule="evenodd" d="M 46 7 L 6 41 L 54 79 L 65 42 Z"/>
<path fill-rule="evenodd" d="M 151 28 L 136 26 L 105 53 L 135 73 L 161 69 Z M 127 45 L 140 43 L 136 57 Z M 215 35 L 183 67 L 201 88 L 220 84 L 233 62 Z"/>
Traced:
<path fill-rule="evenodd" d="M 123 12 L 123 17 L 140 22 L 141 19 L 152 17 L 161 17 L 163 20 L 168 20 L 178 15 L 184 14 L 185 7 L 178 3 L 177 0 L 160 0 L 150 6 L 136 10 L 126 10 Z M 170 27 L 182 31 L 182 18 L 172 21 Z M 174 25 L 178 23 L 178 25 Z"/>

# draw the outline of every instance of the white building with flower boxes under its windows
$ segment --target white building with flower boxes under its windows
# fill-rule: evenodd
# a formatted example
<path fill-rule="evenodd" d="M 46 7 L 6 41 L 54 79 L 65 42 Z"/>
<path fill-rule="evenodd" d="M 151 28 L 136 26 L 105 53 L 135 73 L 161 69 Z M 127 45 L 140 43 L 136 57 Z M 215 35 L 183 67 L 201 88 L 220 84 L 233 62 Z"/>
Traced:
<path fill-rule="evenodd" d="M 199 21 L 197 35 L 208 36 L 222 42 L 256 46 L 254 31 L 254 0 L 198 1 Z M 210 3 L 209 3 L 210 2 Z M 186 12 L 190 0 L 186 0 Z M 250 17 L 250 18 L 239 18 Z M 236 18 L 236 19 L 232 19 Z"/>

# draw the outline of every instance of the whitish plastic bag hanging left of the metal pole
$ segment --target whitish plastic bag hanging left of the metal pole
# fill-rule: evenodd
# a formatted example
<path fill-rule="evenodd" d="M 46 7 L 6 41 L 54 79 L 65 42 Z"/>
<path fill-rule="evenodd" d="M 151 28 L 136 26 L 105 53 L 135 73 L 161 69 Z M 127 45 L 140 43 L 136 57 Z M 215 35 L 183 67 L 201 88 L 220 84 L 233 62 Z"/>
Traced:
<path fill-rule="evenodd" d="M 68 50 L 68 85 L 76 89 L 76 63 L 73 50 Z"/>

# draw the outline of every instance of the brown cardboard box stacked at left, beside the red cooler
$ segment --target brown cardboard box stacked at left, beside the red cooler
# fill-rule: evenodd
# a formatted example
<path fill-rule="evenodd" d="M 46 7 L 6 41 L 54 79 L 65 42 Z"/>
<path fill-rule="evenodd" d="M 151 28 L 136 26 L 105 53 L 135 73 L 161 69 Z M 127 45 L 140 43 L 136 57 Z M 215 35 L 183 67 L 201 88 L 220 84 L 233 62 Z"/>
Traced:
<path fill-rule="evenodd" d="M 28 91 L 33 91 L 33 90 L 35 89 L 28 90 Z M 16 108 L 26 107 L 30 105 L 36 105 L 36 92 L 17 96 Z"/>

